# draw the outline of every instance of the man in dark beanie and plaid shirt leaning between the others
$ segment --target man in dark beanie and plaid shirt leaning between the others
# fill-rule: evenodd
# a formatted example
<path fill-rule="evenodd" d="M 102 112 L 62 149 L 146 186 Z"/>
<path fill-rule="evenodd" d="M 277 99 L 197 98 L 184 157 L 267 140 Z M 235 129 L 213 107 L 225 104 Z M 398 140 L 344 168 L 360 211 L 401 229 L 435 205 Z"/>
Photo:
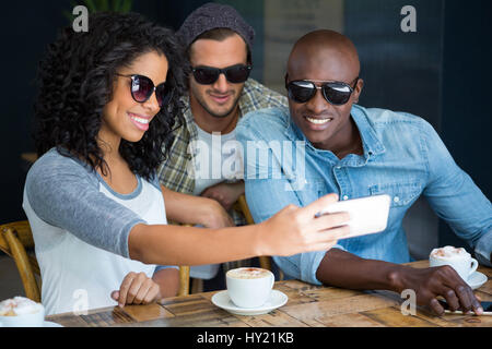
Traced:
<path fill-rule="evenodd" d="M 232 7 L 207 3 L 176 34 L 190 73 L 183 98 L 185 124 L 175 131 L 169 157 L 159 169 L 167 218 L 212 228 L 244 225 L 244 217 L 232 209 L 244 194 L 236 123 L 249 111 L 286 106 L 286 98 L 248 79 L 255 32 Z M 223 269 L 249 263 L 230 262 Z M 210 279 L 218 268 L 192 267 L 190 275 Z"/>

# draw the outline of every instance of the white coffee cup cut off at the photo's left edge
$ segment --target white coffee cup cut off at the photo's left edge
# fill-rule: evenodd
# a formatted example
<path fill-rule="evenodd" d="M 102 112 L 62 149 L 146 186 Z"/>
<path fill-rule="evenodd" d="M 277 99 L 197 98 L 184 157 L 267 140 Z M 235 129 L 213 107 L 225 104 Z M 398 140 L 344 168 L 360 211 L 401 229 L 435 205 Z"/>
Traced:
<path fill-rule="evenodd" d="M 25 304 L 21 297 L 14 298 L 20 299 L 23 303 L 19 309 L 13 309 L 14 314 L 0 315 L 0 326 L 4 327 L 43 327 L 45 323 L 45 308 L 40 303 L 31 301 Z M 13 300 L 14 300 L 13 299 Z M 11 301 L 11 300 L 8 300 Z"/>

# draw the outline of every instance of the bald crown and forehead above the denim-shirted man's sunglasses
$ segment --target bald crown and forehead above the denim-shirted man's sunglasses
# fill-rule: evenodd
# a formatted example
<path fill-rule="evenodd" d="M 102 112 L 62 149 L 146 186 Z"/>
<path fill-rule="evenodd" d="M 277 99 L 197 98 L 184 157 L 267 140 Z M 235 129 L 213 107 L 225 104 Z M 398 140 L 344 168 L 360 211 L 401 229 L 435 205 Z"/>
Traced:
<path fill-rule="evenodd" d="M 313 76 L 314 69 L 317 69 Z M 288 61 L 289 80 L 323 80 L 350 83 L 359 76 L 359 55 L 344 35 L 320 29 L 301 37 Z M 311 75 L 311 76 L 307 76 Z"/>

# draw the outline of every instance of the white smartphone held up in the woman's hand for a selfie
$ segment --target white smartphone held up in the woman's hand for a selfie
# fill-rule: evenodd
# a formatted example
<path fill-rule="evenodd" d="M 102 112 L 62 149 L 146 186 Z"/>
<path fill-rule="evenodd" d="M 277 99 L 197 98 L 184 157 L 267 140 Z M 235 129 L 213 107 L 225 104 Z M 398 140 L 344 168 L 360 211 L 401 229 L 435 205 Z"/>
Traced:
<path fill-rule="evenodd" d="M 386 194 L 339 201 L 326 207 L 318 216 L 338 212 L 349 213 L 350 220 L 347 225 L 350 227 L 350 234 L 343 237 L 349 239 L 385 230 L 389 204 L 390 197 Z"/>

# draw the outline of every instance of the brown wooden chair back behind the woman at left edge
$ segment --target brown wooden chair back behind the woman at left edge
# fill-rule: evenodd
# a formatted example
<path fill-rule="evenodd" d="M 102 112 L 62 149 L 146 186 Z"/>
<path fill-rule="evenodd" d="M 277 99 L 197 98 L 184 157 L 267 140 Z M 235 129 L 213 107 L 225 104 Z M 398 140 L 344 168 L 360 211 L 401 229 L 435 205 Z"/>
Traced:
<path fill-rule="evenodd" d="M 14 221 L 0 226 L 0 250 L 15 261 L 25 296 L 40 302 L 40 285 L 35 275 L 40 276 L 39 265 L 26 249 L 34 248 L 33 233 L 27 220 Z"/>

